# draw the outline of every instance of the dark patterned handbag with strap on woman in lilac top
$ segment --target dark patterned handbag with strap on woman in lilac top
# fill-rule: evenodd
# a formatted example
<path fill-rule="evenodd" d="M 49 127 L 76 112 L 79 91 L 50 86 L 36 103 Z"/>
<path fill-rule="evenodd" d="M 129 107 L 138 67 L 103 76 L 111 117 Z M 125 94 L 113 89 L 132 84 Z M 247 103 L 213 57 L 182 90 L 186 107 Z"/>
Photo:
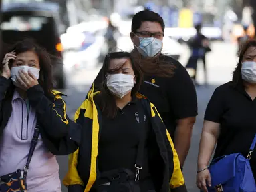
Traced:
<path fill-rule="evenodd" d="M 27 172 L 29 171 L 29 164 L 31 162 L 33 153 L 35 151 L 35 146 L 39 138 L 39 125 L 35 125 L 35 131 L 33 134 L 33 139 L 31 141 L 29 155 L 27 157 L 27 163 L 23 170 L 18 169 L 13 173 L 3 175 L 0 177 L 0 192 L 25 192 L 27 191 Z"/>

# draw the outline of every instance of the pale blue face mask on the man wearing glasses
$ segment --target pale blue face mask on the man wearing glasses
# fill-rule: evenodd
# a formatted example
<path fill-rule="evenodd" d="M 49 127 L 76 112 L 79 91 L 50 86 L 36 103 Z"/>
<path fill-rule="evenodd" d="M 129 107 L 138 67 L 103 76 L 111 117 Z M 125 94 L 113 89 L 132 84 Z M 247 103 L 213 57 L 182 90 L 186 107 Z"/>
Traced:
<path fill-rule="evenodd" d="M 140 46 L 136 47 L 144 57 L 154 57 L 162 51 L 162 41 L 154 37 L 139 37 Z"/>

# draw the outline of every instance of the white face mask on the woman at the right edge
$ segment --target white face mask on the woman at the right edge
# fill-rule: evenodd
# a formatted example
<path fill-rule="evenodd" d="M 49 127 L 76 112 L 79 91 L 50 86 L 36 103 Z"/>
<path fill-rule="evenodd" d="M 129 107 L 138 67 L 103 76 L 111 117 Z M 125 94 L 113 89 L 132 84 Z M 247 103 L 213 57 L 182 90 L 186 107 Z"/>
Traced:
<path fill-rule="evenodd" d="M 242 63 L 242 79 L 249 83 L 256 83 L 256 62 L 246 61 Z"/>

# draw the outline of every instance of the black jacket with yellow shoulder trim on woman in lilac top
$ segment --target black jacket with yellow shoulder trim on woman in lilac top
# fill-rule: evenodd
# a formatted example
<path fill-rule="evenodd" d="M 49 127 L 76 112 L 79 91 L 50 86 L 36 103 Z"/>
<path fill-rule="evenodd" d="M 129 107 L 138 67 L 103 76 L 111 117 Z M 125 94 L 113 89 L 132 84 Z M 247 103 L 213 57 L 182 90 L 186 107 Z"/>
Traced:
<path fill-rule="evenodd" d="M 11 117 L 12 95 L 5 97 L 7 89 L 11 86 L 13 86 L 11 80 L 0 75 L 0 139 Z M 41 126 L 43 143 L 53 155 L 73 153 L 78 148 L 75 141 L 80 139 L 73 137 L 73 133 L 80 129 L 80 125 L 68 119 L 66 103 L 62 95 L 63 93 L 52 91 L 52 97 L 48 98 L 40 85 L 35 85 L 27 91 L 29 103 L 36 109 L 37 123 Z"/>

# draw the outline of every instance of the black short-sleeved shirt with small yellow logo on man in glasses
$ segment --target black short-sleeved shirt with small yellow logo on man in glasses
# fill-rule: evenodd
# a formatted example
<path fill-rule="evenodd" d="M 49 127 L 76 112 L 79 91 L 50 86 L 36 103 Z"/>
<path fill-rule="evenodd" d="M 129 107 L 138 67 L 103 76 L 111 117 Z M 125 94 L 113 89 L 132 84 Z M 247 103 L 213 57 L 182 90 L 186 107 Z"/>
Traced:
<path fill-rule="evenodd" d="M 186 69 L 172 57 L 166 55 L 160 57 L 170 65 L 176 66 L 174 76 L 171 78 L 146 76 L 140 87 L 140 93 L 154 103 L 174 139 L 176 120 L 197 116 L 197 94 Z M 100 86 L 103 78 L 101 69 L 94 80 L 96 88 Z"/>

